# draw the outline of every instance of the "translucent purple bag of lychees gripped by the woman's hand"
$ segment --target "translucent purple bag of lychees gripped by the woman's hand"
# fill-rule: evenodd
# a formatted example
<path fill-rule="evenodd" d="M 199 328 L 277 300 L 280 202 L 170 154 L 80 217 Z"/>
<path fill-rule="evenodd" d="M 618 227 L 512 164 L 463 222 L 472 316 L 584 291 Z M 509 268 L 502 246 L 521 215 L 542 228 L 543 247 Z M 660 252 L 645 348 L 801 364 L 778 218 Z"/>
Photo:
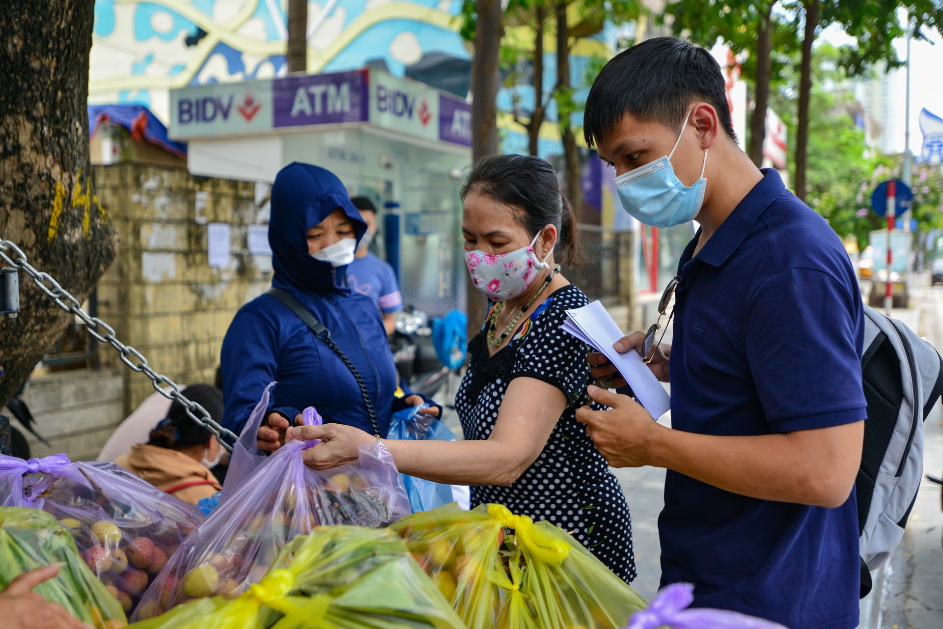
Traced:
<path fill-rule="evenodd" d="M 306 421 L 314 422 L 314 415 L 306 411 Z M 306 447 L 289 441 L 231 488 L 160 572 L 131 620 L 215 594 L 239 596 L 261 581 L 292 538 L 315 526 L 379 528 L 409 513 L 392 455 L 379 441 L 360 446 L 355 463 L 326 472 L 306 467 Z"/>

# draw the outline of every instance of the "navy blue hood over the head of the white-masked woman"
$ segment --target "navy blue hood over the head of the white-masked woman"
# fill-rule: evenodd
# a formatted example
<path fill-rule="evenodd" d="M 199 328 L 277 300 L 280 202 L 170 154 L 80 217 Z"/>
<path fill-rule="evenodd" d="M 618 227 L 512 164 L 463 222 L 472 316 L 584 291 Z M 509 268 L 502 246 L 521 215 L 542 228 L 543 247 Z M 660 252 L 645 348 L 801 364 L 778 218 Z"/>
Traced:
<path fill-rule="evenodd" d="M 291 162 L 275 176 L 272 185 L 269 245 L 272 247 L 273 285 L 316 293 L 344 292 L 344 269 L 307 253 L 306 231 L 336 209 L 354 222 L 356 239 L 367 231 L 336 174 L 319 166 Z"/>

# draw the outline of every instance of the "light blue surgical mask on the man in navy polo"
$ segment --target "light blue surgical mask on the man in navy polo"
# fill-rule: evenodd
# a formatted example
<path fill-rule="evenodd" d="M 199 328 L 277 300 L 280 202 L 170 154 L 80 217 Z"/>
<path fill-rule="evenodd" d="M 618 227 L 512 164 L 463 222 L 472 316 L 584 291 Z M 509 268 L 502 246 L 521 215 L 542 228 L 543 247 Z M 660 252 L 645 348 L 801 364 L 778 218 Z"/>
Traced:
<path fill-rule="evenodd" d="M 671 166 L 671 156 L 681 142 L 690 115 L 688 111 L 678 140 L 674 142 L 674 148 L 668 156 L 613 179 L 622 208 L 641 223 L 664 229 L 687 223 L 701 211 L 704 187 L 707 185 L 707 180 L 703 178 L 707 166 L 707 149 L 704 149 L 701 178 L 693 186 L 681 183 Z"/>

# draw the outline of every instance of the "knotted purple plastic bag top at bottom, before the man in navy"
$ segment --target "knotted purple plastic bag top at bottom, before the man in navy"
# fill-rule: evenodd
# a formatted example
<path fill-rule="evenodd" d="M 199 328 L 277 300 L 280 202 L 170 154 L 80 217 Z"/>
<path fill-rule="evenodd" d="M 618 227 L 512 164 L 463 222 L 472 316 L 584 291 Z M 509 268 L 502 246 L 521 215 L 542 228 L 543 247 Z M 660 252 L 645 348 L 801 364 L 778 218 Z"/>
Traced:
<path fill-rule="evenodd" d="M 626 629 L 787 629 L 782 624 L 764 621 L 726 609 L 687 609 L 694 601 L 694 586 L 672 583 L 658 591 L 648 609 L 636 612 Z"/>

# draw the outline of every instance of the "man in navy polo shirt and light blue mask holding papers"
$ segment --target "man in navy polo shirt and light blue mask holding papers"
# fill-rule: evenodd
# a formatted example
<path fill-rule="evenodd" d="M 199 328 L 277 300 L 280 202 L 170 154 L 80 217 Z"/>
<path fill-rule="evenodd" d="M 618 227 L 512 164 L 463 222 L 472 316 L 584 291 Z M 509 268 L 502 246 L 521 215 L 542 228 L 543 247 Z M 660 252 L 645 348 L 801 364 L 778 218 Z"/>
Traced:
<path fill-rule="evenodd" d="M 701 223 L 678 265 L 672 345 L 660 332 L 616 344 L 670 381 L 672 428 L 596 387 L 611 410 L 577 413 L 610 465 L 668 469 L 662 584 L 792 629 L 856 627 L 864 319 L 841 242 L 739 150 L 720 67 L 687 41 L 609 61 L 584 128 L 630 214 Z M 604 356 L 589 361 L 625 385 Z"/>

